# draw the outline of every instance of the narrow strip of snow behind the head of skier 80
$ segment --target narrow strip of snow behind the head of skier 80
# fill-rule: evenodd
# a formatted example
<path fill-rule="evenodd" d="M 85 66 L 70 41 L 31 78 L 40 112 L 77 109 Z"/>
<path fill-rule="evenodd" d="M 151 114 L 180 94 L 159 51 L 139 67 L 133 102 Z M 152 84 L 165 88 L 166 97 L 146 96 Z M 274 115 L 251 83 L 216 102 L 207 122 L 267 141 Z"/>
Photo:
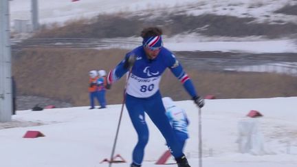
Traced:
<path fill-rule="evenodd" d="M 108 41 L 107 47 L 98 47 L 98 49 L 106 49 L 110 47 L 133 49 L 142 43 L 142 38 L 120 38 L 121 42 L 118 42 L 118 38 L 108 38 L 106 41 Z M 270 40 L 256 36 L 248 36 L 245 38 L 210 38 L 208 36 L 199 36 L 197 34 L 177 34 L 169 38 L 165 36 L 163 41 L 164 47 L 172 51 L 221 51 L 253 54 L 297 53 L 297 41 L 292 39 Z"/>

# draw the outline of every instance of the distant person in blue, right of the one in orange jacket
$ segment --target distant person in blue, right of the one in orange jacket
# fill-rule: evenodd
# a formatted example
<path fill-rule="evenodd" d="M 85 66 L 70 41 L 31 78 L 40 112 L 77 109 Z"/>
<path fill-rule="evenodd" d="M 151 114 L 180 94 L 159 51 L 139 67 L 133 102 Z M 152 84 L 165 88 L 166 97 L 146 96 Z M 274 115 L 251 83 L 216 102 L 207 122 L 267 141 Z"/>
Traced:
<path fill-rule="evenodd" d="M 99 109 L 105 109 L 106 108 L 106 100 L 105 100 L 105 93 L 106 93 L 106 71 L 105 70 L 99 70 L 98 71 L 99 78 L 98 78 L 98 97 L 100 102 L 100 108 Z"/>

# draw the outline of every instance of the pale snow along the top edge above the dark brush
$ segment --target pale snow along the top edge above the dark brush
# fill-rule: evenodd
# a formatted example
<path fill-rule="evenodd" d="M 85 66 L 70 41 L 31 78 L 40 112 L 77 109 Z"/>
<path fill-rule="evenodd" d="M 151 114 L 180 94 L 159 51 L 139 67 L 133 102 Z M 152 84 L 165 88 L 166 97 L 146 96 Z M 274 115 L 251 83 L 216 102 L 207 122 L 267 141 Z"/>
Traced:
<path fill-rule="evenodd" d="M 10 1 L 11 18 L 30 19 L 30 0 Z M 141 14 L 154 11 L 184 12 L 186 14 L 218 14 L 254 17 L 259 22 L 289 21 L 297 23 L 296 16 L 274 13 L 285 5 L 296 5 L 294 0 L 39 0 L 41 23 L 64 22 L 69 19 L 96 16 L 104 13 L 134 12 Z"/>

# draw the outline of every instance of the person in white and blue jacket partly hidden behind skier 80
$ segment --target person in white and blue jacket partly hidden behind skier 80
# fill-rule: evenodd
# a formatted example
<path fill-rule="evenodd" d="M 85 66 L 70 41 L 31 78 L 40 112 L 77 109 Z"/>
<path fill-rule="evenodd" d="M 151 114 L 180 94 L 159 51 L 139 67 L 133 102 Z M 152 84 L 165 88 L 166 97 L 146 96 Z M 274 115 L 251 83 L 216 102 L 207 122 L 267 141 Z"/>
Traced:
<path fill-rule="evenodd" d="M 164 107 L 166 109 L 166 116 L 173 127 L 173 131 L 177 136 L 181 144 L 181 148 L 184 151 L 184 145 L 186 144 L 186 140 L 188 139 L 188 118 L 186 115 L 186 111 L 177 107 L 173 100 L 169 97 L 162 98 Z"/>

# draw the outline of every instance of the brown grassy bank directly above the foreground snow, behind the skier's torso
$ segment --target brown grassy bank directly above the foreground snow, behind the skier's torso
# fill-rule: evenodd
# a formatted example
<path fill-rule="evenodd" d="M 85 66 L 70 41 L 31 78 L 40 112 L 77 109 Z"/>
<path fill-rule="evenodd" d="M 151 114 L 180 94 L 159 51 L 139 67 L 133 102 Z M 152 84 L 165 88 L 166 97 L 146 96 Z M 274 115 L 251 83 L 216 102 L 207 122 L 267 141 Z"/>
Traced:
<path fill-rule="evenodd" d="M 19 95 L 35 95 L 71 102 L 74 106 L 89 105 L 88 72 L 108 71 L 122 60 L 124 49 L 22 49 L 12 60 L 12 71 Z M 178 56 L 178 55 L 177 55 Z M 297 78 L 279 74 L 219 73 L 186 71 L 202 96 L 217 98 L 270 98 L 297 96 Z M 124 78 L 107 91 L 109 104 L 122 102 Z M 170 71 L 165 71 L 161 82 L 164 96 L 175 100 L 190 97 Z"/>

